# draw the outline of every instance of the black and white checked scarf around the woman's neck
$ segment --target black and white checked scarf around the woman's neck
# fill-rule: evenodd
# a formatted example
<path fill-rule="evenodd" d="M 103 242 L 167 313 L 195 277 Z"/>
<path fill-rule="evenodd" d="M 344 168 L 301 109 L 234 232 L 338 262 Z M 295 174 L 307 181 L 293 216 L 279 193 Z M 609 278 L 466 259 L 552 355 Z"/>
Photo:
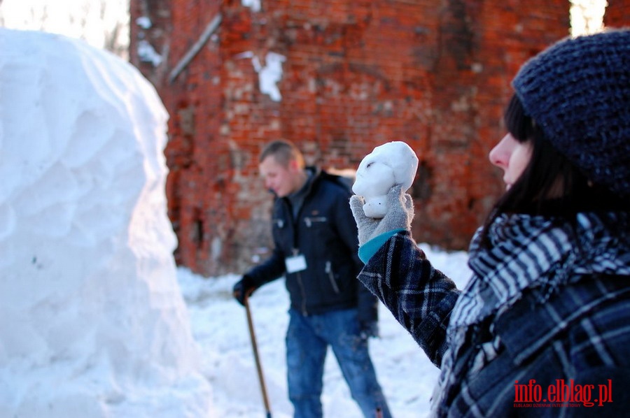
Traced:
<path fill-rule="evenodd" d="M 538 287 L 549 298 L 581 275 L 630 275 L 629 212 L 580 213 L 575 224 L 549 217 L 501 215 L 490 226 L 489 247 L 482 245 L 481 231 L 470 243 L 472 278 L 451 313 L 449 349 L 434 406 L 444 389 L 461 378 L 451 373 L 452 367 L 472 324 L 510 308 L 528 288 Z M 475 368 L 492 359 L 498 341 L 486 345 Z"/>

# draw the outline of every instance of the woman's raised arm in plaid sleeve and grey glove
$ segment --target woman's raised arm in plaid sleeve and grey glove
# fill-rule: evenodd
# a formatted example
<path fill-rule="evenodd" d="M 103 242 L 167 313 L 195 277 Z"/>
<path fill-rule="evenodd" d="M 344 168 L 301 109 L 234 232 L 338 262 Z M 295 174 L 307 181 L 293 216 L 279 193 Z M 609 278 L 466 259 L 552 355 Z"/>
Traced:
<path fill-rule="evenodd" d="M 365 217 L 359 196 L 351 198 L 360 255 L 365 262 L 358 279 L 411 333 L 429 359 L 440 366 L 446 349 L 451 310 L 460 294 L 455 283 L 433 268 L 409 231 L 411 196 L 393 187 L 383 219 Z"/>

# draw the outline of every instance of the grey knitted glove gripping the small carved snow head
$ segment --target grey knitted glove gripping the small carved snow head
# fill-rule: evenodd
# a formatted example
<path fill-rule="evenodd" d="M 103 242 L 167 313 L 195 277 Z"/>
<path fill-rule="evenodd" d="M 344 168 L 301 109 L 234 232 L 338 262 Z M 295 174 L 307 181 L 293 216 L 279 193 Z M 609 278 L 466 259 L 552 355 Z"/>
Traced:
<path fill-rule="evenodd" d="M 414 201 L 409 194 L 402 192 L 400 185 L 392 187 L 387 193 L 388 209 L 382 219 L 365 216 L 363 203 L 365 202 L 361 196 L 354 195 L 350 198 L 350 208 L 358 229 L 359 245 L 387 231 L 411 229 L 414 219 Z"/>

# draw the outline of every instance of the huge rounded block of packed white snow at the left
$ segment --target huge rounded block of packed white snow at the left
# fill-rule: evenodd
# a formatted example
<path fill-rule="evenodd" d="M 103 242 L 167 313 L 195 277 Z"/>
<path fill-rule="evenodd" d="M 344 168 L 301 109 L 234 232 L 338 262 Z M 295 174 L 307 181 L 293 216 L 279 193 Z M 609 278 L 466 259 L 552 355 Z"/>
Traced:
<path fill-rule="evenodd" d="M 209 416 L 155 89 L 34 31 L 0 29 L 0 73 L 0 416 Z"/>

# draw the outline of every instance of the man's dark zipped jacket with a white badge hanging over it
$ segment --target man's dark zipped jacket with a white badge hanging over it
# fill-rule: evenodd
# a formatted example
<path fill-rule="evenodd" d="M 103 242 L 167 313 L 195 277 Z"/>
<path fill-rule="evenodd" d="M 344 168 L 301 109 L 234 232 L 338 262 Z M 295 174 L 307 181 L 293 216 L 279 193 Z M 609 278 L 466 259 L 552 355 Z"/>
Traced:
<path fill-rule="evenodd" d="M 358 258 L 356 223 L 350 210 L 347 179 L 314 171 L 297 217 L 288 198 L 274 201 L 274 251 L 246 276 L 256 287 L 286 277 L 291 308 L 302 315 L 358 308 L 360 322 L 377 319 L 377 298 L 356 277 L 363 268 Z M 307 268 L 288 273 L 285 260 L 303 254 Z"/>

